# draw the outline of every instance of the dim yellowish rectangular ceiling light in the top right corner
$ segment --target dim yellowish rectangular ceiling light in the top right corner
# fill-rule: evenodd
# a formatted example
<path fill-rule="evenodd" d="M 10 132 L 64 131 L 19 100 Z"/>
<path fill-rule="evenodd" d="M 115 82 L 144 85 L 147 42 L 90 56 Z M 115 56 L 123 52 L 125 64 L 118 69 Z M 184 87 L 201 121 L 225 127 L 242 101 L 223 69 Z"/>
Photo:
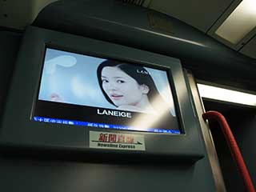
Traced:
<path fill-rule="evenodd" d="M 237 44 L 256 26 L 256 0 L 243 0 L 215 34 Z"/>

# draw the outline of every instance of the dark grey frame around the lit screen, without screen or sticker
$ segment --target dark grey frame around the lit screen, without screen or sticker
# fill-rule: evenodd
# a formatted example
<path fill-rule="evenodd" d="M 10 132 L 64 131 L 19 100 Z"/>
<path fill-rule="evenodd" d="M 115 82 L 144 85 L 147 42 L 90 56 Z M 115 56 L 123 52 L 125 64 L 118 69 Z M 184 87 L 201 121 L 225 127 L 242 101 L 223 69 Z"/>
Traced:
<path fill-rule="evenodd" d="M 84 45 L 89 45 L 90 49 Z M 56 49 L 60 48 L 79 54 L 102 53 L 100 55 L 106 56 L 106 58 L 119 58 L 135 64 L 142 63 L 143 66 L 153 66 L 153 68 L 154 66 L 157 68 L 169 66 L 170 71 L 167 74 L 169 81 L 173 81 L 173 83 L 170 83 L 170 88 L 174 96 L 175 110 L 185 134 L 156 134 L 138 131 L 132 131 L 131 133 L 127 130 L 95 129 L 91 127 L 72 129 L 73 127 L 68 125 L 60 126 L 31 121 L 32 107 L 35 99 L 38 99 L 38 85 L 41 80 L 42 61 L 46 46 L 54 46 Z M 90 51 L 93 53 L 90 53 Z M 161 63 L 161 66 L 155 63 Z M 177 58 L 29 26 L 22 40 L 6 100 L 6 108 L 2 116 L 0 144 L 2 146 L 24 146 L 25 148 L 45 150 L 77 151 L 82 154 L 134 154 L 197 161 L 203 157 L 203 146 L 199 133 L 198 117 L 193 107 L 190 91 L 186 86 L 186 78 Z M 15 117 L 15 121 L 13 117 Z M 60 129 L 62 130 L 61 134 Z M 146 150 L 92 149 L 89 146 L 90 130 L 141 134 L 145 138 Z"/>

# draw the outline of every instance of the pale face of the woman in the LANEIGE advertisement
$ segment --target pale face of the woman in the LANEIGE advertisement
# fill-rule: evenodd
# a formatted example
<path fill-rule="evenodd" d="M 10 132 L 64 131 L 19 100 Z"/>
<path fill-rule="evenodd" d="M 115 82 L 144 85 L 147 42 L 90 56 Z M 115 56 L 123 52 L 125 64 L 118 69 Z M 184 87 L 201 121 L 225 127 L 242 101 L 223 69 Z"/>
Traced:
<path fill-rule="evenodd" d="M 102 87 L 116 106 L 136 106 L 146 94 L 143 86 L 116 66 L 102 69 Z"/>

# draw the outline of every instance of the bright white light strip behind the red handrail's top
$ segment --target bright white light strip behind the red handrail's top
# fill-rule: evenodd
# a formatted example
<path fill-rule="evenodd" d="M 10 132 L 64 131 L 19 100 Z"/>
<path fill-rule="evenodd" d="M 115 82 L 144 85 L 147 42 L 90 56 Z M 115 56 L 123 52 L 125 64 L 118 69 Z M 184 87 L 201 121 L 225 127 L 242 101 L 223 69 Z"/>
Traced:
<path fill-rule="evenodd" d="M 256 106 L 256 94 L 247 94 L 236 90 L 227 90 L 216 86 L 198 84 L 202 98 L 211 98 L 223 102 L 233 102 L 246 106 Z"/>

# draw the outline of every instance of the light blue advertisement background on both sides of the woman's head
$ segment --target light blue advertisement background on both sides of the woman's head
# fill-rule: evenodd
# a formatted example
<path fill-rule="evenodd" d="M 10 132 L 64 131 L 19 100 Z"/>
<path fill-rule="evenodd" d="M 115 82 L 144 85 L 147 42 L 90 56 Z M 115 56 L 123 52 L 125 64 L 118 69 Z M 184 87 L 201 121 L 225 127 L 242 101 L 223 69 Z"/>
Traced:
<path fill-rule="evenodd" d="M 105 60 L 47 48 L 38 99 L 115 110 L 98 86 L 97 68 Z M 145 68 L 162 98 L 170 105 L 170 113 L 176 116 L 166 71 Z M 53 99 L 56 95 L 57 101 Z"/>

